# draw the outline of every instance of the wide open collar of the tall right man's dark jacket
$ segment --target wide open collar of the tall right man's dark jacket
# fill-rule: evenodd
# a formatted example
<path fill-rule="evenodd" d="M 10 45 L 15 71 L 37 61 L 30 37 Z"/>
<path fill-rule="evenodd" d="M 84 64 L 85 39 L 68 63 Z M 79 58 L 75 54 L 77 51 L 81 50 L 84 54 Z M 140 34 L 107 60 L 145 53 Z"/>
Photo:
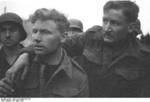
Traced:
<path fill-rule="evenodd" d="M 104 47 L 110 48 L 108 50 L 111 50 L 112 48 L 112 51 L 114 52 L 113 57 L 114 58 L 116 57 L 113 62 L 117 62 L 118 60 L 124 58 L 125 56 L 137 56 L 138 53 L 140 52 L 139 42 L 131 36 L 129 36 L 129 38 L 126 39 L 124 42 L 121 42 L 121 44 L 117 44 L 113 46 L 109 44 L 105 44 L 102 41 L 99 50 L 92 52 L 89 49 L 85 49 L 83 54 L 86 56 L 88 60 L 96 64 L 100 64 L 101 56 L 103 56 Z"/>

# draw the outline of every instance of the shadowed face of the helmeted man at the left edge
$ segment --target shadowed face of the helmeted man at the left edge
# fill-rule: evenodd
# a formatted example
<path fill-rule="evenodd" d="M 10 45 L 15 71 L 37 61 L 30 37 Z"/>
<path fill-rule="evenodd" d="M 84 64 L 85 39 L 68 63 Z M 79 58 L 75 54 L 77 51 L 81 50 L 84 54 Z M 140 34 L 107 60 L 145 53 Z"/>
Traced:
<path fill-rule="evenodd" d="M 14 47 L 20 42 L 20 38 L 19 25 L 7 22 L 0 26 L 0 39 L 4 46 Z"/>

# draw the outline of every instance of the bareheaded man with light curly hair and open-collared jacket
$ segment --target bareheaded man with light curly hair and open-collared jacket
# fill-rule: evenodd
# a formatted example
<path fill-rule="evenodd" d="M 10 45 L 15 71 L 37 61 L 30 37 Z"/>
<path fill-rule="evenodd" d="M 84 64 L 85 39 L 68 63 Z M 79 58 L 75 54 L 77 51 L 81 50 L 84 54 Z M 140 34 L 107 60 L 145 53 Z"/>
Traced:
<path fill-rule="evenodd" d="M 32 17 L 35 55 L 23 81 L 0 82 L 0 95 L 17 97 L 87 97 L 88 80 L 84 70 L 61 47 L 68 20 L 55 9 L 38 9 Z M 18 75 L 19 76 L 19 75 Z M 9 88 L 5 87 L 9 86 Z M 12 85 L 13 84 L 13 85 Z M 12 93 L 11 89 L 15 92 Z"/>

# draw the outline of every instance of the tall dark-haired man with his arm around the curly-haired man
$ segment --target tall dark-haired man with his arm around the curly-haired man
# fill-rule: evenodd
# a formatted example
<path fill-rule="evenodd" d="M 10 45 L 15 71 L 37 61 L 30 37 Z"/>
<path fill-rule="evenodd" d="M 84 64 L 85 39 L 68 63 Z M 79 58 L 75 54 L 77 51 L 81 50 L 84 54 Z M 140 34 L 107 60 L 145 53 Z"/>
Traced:
<path fill-rule="evenodd" d="M 108 1 L 103 30 L 93 27 L 64 42 L 69 55 L 80 55 L 76 60 L 88 74 L 91 97 L 150 95 L 150 53 L 133 34 L 138 12 L 132 1 Z"/>

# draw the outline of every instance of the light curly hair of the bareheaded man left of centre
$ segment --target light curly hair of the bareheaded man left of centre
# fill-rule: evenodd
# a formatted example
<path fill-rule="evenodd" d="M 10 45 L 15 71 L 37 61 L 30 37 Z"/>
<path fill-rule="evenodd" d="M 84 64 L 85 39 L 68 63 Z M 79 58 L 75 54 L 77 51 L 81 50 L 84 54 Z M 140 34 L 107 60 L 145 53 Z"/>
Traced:
<path fill-rule="evenodd" d="M 69 28 L 69 22 L 65 15 L 55 9 L 37 9 L 31 17 L 31 22 L 34 24 L 37 20 L 53 20 L 61 33 L 66 32 Z"/>

